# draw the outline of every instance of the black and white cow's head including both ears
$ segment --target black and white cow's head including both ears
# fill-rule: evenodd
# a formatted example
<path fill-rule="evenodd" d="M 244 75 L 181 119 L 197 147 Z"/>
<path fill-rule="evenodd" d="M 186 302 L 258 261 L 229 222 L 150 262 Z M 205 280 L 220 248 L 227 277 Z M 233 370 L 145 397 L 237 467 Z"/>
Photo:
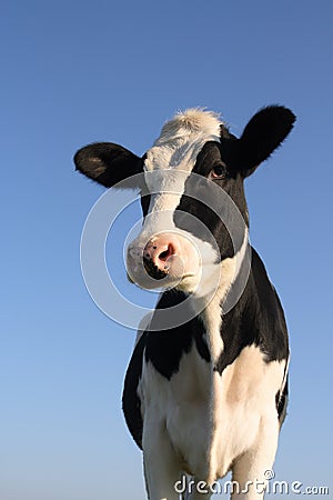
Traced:
<path fill-rule="evenodd" d="M 191 109 L 164 124 L 143 158 L 112 143 L 79 150 L 74 162 L 85 176 L 105 187 L 128 179 L 141 190 L 144 220 L 128 249 L 130 279 L 198 294 L 220 279 L 230 284 L 248 246 L 243 180 L 294 120 L 290 110 L 268 107 L 236 139 L 214 113 Z"/>

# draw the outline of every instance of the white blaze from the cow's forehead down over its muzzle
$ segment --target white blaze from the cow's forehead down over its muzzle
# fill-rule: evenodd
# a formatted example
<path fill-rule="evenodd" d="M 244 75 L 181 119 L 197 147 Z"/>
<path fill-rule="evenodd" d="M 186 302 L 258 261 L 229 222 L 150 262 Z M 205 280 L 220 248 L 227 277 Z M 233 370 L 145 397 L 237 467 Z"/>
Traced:
<path fill-rule="evenodd" d="M 216 260 L 216 249 L 178 229 L 173 216 L 199 152 L 208 141 L 220 141 L 221 123 L 212 112 L 190 109 L 178 113 L 164 124 L 161 136 L 147 152 L 144 179 L 151 196 L 150 207 L 141 233 L 129 247 L 128 259 L 129 274 L 143 288 L 178 286 L 193 291 L 202 268 Z M 172 240 L 170 246 L 164 244 L 168 236 Z M 157 253 L 165 256 L 165 266 Z M 168 272 L 165 278 L 148 276 L 143 268 L 144 256 Z"/>

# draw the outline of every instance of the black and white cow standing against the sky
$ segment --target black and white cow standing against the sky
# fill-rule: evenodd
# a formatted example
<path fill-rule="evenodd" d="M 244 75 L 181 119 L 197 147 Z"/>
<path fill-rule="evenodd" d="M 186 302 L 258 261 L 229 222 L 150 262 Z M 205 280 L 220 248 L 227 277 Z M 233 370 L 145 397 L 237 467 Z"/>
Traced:
<path fill-rule="evenodd" d="M 236 138 L 219 114 L 193 108 L 142 157 L 109 142 L 75 153 L 90 179 L 140 190 L 143 222 L 127 270 L 139 287 L 162 290 L 122 398 L 150 500 L 209 499 L 229 471 L 232 499 L 264 496 L 290 351 L 280 299 L 249 241 L 244 179 L 294 121 L 290 109 L 268 106 Z"/>

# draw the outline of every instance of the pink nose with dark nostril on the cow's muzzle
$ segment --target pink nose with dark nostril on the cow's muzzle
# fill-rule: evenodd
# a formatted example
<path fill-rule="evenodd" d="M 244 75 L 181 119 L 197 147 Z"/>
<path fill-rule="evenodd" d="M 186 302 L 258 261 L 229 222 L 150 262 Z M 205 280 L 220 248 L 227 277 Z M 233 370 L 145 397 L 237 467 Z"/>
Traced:
<path fill-rule="evenodd" d="M 162 272 L 168 272 L 168 260 L 176 254 L 178 241 L 173 234 L 160 234 L 147 243 L 143 258 L 153 262 Z"/>

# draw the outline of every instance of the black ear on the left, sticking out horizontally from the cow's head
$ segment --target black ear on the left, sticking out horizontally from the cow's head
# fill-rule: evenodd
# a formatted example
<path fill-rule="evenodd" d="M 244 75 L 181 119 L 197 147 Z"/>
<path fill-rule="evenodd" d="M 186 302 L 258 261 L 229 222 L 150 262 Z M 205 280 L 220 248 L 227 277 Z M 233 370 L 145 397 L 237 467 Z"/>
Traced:
<path fill-rule="evenodd" d="M 95 142 L 85 146 L 74 156 L 77 170 L 105 188 L 127 179 L 125 187 L 138 188 L 138 178 L 143 171 L 143 160 L 128 149 L 112 142 Z"/>

